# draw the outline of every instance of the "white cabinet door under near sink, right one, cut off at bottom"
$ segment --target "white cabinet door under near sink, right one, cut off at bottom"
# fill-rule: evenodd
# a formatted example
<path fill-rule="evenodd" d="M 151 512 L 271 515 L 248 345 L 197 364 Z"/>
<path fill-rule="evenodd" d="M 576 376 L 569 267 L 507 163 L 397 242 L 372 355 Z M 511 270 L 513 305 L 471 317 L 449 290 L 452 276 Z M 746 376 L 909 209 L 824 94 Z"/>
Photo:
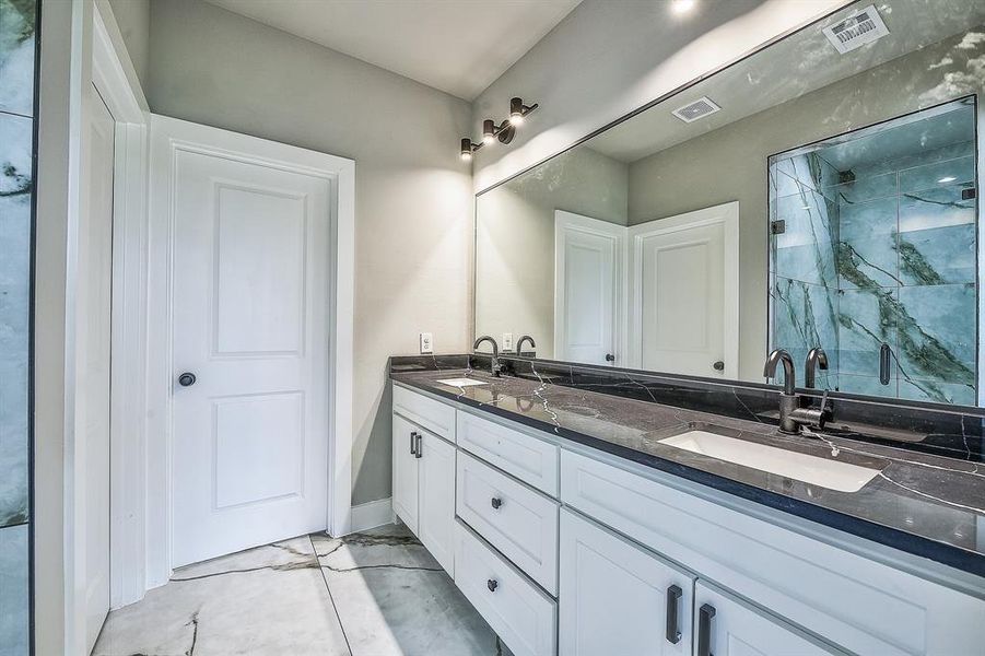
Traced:
<path fill-rule="evenodd" d="M 703 581 L 694 586 L 695 656 L 816 656 L 837 654 L 777 618 Z"/>

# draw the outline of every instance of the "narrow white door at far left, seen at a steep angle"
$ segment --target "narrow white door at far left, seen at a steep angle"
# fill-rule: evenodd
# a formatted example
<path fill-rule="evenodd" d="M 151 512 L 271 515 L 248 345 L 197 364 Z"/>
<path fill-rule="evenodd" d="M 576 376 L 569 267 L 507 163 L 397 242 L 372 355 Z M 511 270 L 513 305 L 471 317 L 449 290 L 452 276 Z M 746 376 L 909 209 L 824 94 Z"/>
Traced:
<path fill-rule="evenodd" d="M 109 298 L 116 127 L 95 87 L 86 96 L 86 116 L 82 148 L 89 199 L 79 226 L 75 425 L 85 449 L 85 637 L 91 652 L 109 611 Z"/>

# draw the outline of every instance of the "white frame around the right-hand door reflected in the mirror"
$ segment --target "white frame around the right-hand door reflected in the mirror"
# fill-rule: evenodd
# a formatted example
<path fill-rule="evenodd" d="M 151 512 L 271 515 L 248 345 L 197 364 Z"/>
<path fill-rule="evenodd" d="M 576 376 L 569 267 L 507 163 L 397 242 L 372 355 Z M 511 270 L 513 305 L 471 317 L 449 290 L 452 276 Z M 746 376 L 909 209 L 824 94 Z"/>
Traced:
<path fill-rule="evenodd" d="M 646 223 L 631 225 L 628 232 L 630 266 L 629 293 L 629 366 L 643 367 L 643 241 L 647 237 L 722 224 L 725 229 L 725 261 L 723 274 L 725 289 L 725 370 L 723 378 L 735 379 L 739 374 L 739 201 L 725 202 L 693 212 L 676 214 L 666 219 L 655 219 Z M 672 372 L 666 372 L 672 373 Z"/>

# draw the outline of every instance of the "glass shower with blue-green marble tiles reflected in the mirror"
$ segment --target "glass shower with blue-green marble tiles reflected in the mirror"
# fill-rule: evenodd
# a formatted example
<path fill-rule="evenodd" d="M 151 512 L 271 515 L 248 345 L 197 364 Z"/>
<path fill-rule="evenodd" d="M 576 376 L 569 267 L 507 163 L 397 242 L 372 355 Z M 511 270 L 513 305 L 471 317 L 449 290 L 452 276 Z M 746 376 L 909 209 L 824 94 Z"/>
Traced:
<path fill-rule="evenodd" d="M 770 157 L 772 348 L 820 386 L 975 405 L 971 98 Z"/>

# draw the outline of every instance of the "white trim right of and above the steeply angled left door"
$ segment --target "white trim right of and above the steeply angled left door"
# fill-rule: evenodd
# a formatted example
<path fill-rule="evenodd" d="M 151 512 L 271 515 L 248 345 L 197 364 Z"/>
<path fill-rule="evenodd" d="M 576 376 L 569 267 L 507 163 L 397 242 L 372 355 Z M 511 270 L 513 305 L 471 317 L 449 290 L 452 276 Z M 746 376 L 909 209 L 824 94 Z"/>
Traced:
<path fill-rule="evenodd" d="M 146 591 L 148 108 L 106 0 L 93 12 L 93 84 L 116 119 L 113 187 L 109 604 Z"/>

